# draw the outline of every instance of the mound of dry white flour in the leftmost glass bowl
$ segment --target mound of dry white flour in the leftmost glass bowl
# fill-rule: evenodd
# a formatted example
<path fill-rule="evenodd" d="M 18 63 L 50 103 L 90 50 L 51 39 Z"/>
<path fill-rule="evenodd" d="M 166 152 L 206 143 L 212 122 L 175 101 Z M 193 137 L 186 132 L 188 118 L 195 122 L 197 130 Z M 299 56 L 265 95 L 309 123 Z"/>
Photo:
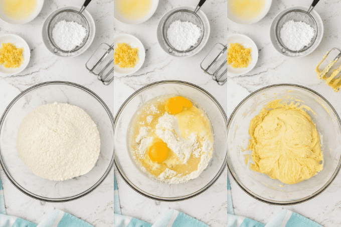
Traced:
<path fill-rule="evenodd" d="M 96 124 L 84 110 L 55 102 L 37 107 L 23 119 L 17 149 L 34 174 L 67 180 L 94 167 L 100 138 Z"/>

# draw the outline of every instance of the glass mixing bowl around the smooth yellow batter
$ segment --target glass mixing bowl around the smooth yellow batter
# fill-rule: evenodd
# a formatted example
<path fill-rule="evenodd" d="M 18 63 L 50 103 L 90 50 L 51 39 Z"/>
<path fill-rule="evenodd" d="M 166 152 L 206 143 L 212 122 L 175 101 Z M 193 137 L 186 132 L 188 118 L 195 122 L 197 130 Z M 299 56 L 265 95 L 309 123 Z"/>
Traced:
<path fill-rule="evenodd" d="M 264 105 L 275 99 L 299 102 L 316 113 L 306 111 L 321 137 L 323 169 L 310 179 L 296 184 L 283 184 L 266 174 L 250 170 L 252 160 L 245 165 L 244 155 L 252 153 L 244 150 L 250 139 L 250 121 Z M 292 205 L 315 197 L 333 181 L 341 166 L 341 122 L 336 111 L 321 95 L 298 85 L 272 85 L 246 97 L 229 119 L 227 141 L 228 168 L 233 178 L 246 193 L 270 204 Z"/>

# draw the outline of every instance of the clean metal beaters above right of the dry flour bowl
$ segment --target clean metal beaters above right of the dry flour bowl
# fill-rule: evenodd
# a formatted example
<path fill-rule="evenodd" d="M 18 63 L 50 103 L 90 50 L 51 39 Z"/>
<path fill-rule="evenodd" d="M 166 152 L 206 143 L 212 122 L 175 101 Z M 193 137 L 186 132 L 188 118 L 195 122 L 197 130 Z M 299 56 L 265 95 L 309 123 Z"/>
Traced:
<path fill-rule="evenodd" d="M 98 54 L 102 52 L 101 50 L 106 49 L 107 51 L 103 55 L 99 55 L 102 57 L 96 61 Z M 85 65 L 89 72 L 97 76 L 97 79 L 102 81 L 104 85 L 109 85 L 114 80 L 114 57 L 111 58 L 110 56 L 110 54 L 113 55 L 113 52 L 111 52 L 113 50 L 114 44 L 110 46 L 102 43 Z M 112 68 L 110 68 L 111 65 Z M 112 74 L 112 77 L 109 77 L 110 74 Z"/>

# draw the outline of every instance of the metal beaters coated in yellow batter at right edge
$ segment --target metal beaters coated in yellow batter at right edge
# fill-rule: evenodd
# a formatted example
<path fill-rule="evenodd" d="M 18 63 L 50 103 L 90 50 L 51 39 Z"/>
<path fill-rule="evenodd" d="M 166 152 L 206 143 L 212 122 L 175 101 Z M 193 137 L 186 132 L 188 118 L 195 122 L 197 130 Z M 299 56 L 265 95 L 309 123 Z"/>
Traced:
<path fill-rule="evenodd" d="M 330 63 L 322 70 L 319 71 L 319 66 L 321 63 L 328 57 L 329 53 L 332 51 L 338 51 L 338 55 L 334 58 L 334 60 L 330 61 Z M 318 63 L 316 66 L 316 73 L 317 77 L 321 80 L 325 80 L 325 83 L 332 87 L 335 92 L 338 92 L 341 89 L 341 75 L 339 73 L 341 72 L 341 65 L 338 67 L 335 66 L 335 63 L 341 58 L 341 50 L 338 48 L 332 48 L 330 51 L 327 52 L 327 54 L 323 57 L 322 61 Z"/>

